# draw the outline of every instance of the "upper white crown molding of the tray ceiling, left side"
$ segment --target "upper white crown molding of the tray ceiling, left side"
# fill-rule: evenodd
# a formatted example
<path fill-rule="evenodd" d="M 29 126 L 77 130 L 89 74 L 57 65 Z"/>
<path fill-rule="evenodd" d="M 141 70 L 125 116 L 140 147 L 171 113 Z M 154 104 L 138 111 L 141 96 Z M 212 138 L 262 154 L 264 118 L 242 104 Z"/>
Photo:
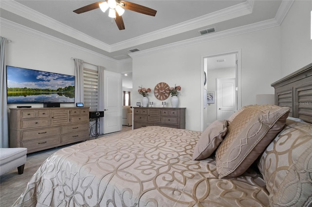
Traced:
<path fill-rule="evenodd" d="M 43 26 L 49 25 L 50 29 L 53 29 L 57 32 L 60 32 L 64 35 L 71 36 L 75 39 L 78 39 L 82 42 L 85 42 L 89 45 L 92 45 L 96 48 L 99 48 L 101 50 L 104 50 L 106 52 L 111 52 L 110 45 L 103 43 L 89 35 L 86 35 L 84 33 L 81 33 L 80 31 L 71 28 L 51 17 L 45 16 L 29 7 L 26 7 L 19 2 L 16 2 L 14 0 L 3 0 L 1 1 L 1 8 L 12 12 L 16 15 L 19 15 L 20 17 L 24 17 L 26 19 L 29 19 L 31 21 L 34 21 L 38 24 L 41 24 Z"/>

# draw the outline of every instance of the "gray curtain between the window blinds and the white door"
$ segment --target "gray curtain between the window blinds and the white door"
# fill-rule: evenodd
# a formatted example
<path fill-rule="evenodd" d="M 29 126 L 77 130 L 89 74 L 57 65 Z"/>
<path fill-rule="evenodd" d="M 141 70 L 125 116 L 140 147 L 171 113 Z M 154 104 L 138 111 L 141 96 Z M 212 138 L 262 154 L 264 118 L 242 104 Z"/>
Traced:
<path fill-rule="evenodd" d="M 98 111 L 104 111 L 104 67 L 102 66 L 98 66 Z M 104 133 L 104 118 L 98 119 L 100 135 Z"/>

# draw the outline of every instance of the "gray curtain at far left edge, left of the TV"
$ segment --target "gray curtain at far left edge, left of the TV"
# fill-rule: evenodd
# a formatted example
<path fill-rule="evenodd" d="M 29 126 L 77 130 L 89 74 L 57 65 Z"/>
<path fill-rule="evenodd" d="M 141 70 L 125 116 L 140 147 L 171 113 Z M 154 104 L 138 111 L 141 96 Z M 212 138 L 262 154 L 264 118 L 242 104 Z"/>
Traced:
<path fill-rule="evenodd" d="M 1 37 L 0 43 L 0 148 L 9 147 L 9 125 L 6 104 L 6 69 L 5 69 L 5 45 L 7 39 Z"/>

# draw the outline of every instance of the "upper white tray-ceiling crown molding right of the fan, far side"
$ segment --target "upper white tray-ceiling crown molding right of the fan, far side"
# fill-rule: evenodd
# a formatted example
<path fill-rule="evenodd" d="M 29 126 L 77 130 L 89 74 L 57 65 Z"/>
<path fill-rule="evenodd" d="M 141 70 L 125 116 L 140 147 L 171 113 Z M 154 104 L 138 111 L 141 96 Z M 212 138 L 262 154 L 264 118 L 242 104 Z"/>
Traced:
<path fill-rule="evenodd" d="M 235 17 L 241 17 L 244 15 L 251 14 L 253 12 L 254 0 L 248 0 L 237 5 L 221 9 L 219 11 L 196 17 L 194 19 L 181 22 L 179 24 L 166 27 L 152 33 L 137 36 L 135 38 L 127 39 L 122 42 L 111 45 L 111 51 L 123 50 L 131 48 L 136 45 L 144 44 L 147 42 L 155 41 L 157 39 L 165 38 L 179 33 L 194 30 L 196 28 L 204 27 L 207 25 L 215 24 L 221 21 L 232 19 Z"/>

